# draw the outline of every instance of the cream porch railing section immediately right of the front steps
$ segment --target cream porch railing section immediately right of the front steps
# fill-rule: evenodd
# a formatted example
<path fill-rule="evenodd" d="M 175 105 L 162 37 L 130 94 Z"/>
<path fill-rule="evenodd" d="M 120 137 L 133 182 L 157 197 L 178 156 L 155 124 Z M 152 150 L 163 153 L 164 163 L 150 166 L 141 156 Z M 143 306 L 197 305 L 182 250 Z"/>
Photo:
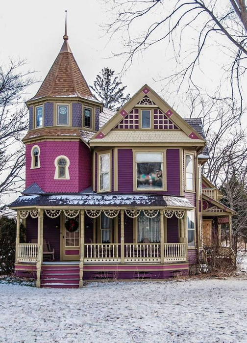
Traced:
<path fill-rule="evenodd" d="M 85 244 L 84 262 L 85 263 L 109 263 L 121 262 L 120 244 Z"/>

